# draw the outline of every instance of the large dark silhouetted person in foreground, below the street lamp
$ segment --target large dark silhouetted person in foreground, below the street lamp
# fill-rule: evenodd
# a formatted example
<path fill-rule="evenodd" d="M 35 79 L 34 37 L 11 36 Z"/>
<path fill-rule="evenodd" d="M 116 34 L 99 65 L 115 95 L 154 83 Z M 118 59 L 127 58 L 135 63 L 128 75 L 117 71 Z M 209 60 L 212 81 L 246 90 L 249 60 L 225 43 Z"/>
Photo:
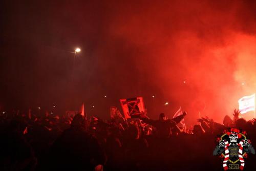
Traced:
<path fill-rule="evenodd" d="M 53 144 L 47 169 L 94 170 L 97 165 L 105 163 L 97 139 L 86 132 L 84 125 L 83 116 L 77 114 L 70 128 Z"/>

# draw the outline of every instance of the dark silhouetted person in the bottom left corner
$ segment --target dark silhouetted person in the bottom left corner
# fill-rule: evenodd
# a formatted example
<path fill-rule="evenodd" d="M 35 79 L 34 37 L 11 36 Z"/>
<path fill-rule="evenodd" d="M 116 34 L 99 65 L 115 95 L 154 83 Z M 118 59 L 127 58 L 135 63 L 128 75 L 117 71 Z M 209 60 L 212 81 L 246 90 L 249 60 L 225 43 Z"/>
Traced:
<path fill-rule="evenodd" d="M 26 125 L 12 120 L 1 133 L 0 170 L 32 170 L 36 164 L 33 151 L 24 137 Z"/>

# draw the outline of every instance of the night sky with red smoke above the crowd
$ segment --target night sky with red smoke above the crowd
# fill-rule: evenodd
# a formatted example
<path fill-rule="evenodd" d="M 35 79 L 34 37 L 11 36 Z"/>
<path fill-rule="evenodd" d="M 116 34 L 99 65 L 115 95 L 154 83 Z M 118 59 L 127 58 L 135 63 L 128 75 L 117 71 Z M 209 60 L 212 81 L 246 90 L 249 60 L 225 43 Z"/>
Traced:
<path fill-rule="evenodd" d="M 221 121 L 255 92 L 255 1 L 1 1 L 0 8 L 1 110 L 76 110 L 84 102 L 89 114 L 108 118 L 120 98 L 143 96 L 152 118 L 182 106 L 194 122 L 205 104 L 202 115 Z"/>

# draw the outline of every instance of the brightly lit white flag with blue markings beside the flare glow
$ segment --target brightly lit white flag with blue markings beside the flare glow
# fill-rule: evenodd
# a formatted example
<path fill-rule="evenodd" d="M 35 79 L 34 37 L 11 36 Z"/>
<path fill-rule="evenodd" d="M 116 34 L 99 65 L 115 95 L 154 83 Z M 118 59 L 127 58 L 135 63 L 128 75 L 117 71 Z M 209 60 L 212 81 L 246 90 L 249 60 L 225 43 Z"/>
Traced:
<path fill-rule="evenodd" d="M 255 94 L 242 97 L 238 100 L 238 104 L 238 109 L 241 114 L 245 114 L 249 111 L 255 111 Z"/>

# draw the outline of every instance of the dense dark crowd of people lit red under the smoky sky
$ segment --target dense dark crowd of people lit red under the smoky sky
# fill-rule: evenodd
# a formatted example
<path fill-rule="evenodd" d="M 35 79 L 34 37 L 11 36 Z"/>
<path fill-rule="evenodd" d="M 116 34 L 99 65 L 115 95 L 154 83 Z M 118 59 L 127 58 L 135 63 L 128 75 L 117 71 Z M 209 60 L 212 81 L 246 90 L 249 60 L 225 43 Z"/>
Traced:
<path fill-rule="evenodd" d="M 223 170 L 223 159 L 212 152 L 224 129 L 238 127 L 256 142 L 256 121 L 240 119 L 238 111 L 223 123 L 200 118 L 192 129 L 180 126 L 185 115 L 102 120 L 1 114 L 0 170 Z M 255 170 L 255 156 L 245 159 L 245 170 Z"/>

